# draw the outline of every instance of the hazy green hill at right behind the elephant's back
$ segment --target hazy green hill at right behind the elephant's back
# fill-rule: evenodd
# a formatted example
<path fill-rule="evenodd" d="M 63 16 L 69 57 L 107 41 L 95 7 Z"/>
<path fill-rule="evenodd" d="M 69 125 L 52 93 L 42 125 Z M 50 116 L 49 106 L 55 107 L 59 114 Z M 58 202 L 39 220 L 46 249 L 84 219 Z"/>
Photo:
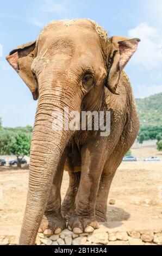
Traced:
<path fill-rule="evenodd" d="M 162 93 L 135 101 L 141 126 L 162 126 Z"/>

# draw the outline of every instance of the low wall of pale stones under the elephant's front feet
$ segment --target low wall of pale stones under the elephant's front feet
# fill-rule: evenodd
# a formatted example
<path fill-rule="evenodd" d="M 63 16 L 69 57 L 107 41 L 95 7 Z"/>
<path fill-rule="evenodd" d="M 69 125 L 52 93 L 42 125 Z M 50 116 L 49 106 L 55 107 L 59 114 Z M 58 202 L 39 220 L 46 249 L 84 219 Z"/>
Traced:
<path fill-rule="evenodd" d="M 17 236 L 0 236 L 0 245 L 17 244 Z M 101 225 L 92 234 L 80 235 L 65 229 L 58 235 L 38 234 L 36 245 L 162 245 L 162 229 L 114 232 Z"/>

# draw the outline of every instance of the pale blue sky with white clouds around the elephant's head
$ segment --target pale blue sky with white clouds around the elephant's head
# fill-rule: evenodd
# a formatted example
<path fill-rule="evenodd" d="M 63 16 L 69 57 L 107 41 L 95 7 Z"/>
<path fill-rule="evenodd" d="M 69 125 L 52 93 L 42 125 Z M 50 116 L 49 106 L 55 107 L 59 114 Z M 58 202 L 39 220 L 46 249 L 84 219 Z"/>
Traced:
<path fill-rule="evenodd" d="M 139 37 L 138 51 L 126 66 L 135 97 L 162 92 L 161 0 L 15 0 L 1 1 L 0 117 L 3 126 L 33 125 L 37 102 L 5 56 L 35 40 L 51 20 L 88 17 L 110 36 Z"/>

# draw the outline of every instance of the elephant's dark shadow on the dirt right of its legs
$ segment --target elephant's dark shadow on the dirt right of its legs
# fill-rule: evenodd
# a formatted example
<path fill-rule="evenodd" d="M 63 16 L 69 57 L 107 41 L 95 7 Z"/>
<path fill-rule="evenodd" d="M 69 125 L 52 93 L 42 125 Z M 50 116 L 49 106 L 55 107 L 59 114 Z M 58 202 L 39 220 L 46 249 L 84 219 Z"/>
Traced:
<path fill-rule="evenodd" d="M 130 218 L 130 214 L 123 210 L 122 208 L 117 208 L 114 206 L 108 206 L 107 207 L 107 222 L 108 222 L 108 227 L 111 228 L 112 223 L 112 228 L 115 227 L 120 227 L 123 225 L 122 221 L 127 221 Z"/>

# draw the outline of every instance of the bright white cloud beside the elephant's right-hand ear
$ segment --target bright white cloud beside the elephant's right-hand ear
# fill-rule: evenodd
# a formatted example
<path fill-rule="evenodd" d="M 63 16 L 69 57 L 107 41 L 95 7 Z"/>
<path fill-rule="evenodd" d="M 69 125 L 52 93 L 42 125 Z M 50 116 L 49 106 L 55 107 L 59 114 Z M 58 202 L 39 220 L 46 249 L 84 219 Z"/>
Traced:
<path fill-rule="evenodd" d="M 162 35 L 160 36 L 158 29 L 143 22 L 130 29 L 128 36 L 141 39 L 132 62 L 141 64 L 147 70 L 156 69 L 162 65 Z"/>

